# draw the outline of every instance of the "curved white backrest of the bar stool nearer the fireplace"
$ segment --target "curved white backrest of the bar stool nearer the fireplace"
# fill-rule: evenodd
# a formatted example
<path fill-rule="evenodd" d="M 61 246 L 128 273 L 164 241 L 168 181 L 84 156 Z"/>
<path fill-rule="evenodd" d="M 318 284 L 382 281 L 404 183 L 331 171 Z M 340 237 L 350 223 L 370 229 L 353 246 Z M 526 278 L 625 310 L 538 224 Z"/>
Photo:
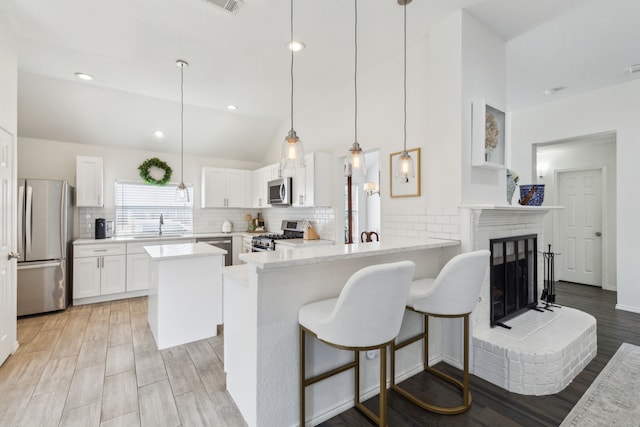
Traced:
<path fill-rule="evenodd" d="M 471 313 L 489 266 L 491 252 L 483 249 L 453 257 L 442 268 L 433 286 L 411 301 L 414 309 L 437 315 Z"/>

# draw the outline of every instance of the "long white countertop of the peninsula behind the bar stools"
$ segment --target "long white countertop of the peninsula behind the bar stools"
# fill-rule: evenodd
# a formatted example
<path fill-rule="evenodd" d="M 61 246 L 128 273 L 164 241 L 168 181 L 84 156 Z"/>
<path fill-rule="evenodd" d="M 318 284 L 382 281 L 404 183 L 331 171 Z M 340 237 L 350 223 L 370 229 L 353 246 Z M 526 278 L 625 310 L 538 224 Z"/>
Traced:
<path fill-rule="evenodd" d="M 458 245 L 460 245 L 458 240 L 387 238 L 381 242 L 309 246 L 295 251 L 242 253 L 240 259 L 257 268 L 277 269 Z"/>

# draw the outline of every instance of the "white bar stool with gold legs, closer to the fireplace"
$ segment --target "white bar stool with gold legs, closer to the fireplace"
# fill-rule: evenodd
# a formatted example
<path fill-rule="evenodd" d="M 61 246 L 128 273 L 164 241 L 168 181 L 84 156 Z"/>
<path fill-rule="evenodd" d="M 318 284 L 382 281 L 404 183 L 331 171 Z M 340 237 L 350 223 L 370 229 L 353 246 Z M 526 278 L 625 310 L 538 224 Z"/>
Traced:
<path fill-rule="evenodd" d="M 427 411 L 439 414 L 460 414 L 471 407 L 469 391 L 469 315 L 478 302 L 480 287 L 489 266 L 488 250 L 467 252 L 452 258 L 435 279 L 420 279 L 411 283 L 407 309 L 424 316 L 424 330 L 406 341 L 391 344 L 391 389 Z M 464 319 L 463 380 L 459 380 L 429 366 L 429 316 Z M 450 382 L 462 391 L 462 404 L 442 407 L 429 404 L 395 383 L 395 352 L 416 341 L 423 340 L 424 370 Z"/>

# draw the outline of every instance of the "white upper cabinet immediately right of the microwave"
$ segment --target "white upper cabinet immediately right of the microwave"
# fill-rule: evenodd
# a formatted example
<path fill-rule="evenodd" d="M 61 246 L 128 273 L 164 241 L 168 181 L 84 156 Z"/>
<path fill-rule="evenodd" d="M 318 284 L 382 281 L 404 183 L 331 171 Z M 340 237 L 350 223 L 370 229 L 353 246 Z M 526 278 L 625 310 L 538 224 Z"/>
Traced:
<path fill-rule="evenodd" d="M 295 170 L 293 206 L 331 206 L 331 155 L 310 153 L 304 156 L 305 167 Z"/>

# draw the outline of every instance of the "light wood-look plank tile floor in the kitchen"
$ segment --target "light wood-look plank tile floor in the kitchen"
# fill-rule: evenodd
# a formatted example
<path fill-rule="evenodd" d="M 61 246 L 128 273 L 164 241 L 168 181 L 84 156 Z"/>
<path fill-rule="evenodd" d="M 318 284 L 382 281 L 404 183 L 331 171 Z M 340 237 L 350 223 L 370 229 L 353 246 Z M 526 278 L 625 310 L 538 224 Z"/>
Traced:
<path fill-rule="evenodd" d="M 2 427 L 246 426 L 222 334 L 158 351 L 146 298 L 19 319 L 18 342 L 0 367 Z"/>

